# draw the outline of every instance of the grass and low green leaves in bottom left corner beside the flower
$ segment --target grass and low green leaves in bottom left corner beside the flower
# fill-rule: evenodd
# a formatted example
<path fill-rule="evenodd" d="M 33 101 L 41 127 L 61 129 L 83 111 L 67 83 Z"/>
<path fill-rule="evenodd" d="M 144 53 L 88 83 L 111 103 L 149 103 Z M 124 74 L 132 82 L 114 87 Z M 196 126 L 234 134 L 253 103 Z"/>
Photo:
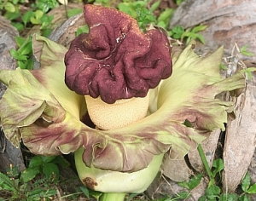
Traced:
<path fill-rule="evenodd" d="M 69 162 L 61 156 L 34 156 L 22 172 L 11 166 L 7 174 L 0 173 L 1 201 L 76 200 L 79 197 L 92 200 L 90 190 L 79 182 Z"/>

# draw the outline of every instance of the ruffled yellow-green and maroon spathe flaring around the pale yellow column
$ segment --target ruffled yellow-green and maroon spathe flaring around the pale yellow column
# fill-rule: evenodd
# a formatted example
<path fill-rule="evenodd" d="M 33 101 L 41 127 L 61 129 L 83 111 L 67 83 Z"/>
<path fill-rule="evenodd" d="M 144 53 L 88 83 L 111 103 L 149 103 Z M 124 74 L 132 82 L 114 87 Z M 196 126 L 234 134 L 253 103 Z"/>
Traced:
<path fill-rule="evenodd" d="M 224 129 L 227 112 L 231 111 L 234 103 L 218 100 L 216 95 L 245 85 L 241 72 L 231 78 L 219 75 L 223 48 L 207 57 L 200 57 L 195 55 L 193 46 L 190 43 L 182 53 L 174 52 L 172 77 L 161 81 L 158 88 L 152 90 L 150 115 L 119 129 L 98 130 L 91 129 L 80 120 L 87 112 L 84 95 L 68 89 L 64 82 L 67 49 L 35 35 L 33 52 L 41 67 L 32 71 L 20 68 L 0 71 L 0 80 L 8 86 L 0 100 L 4 133 L 15 146 L 19 146 L 22 139 L 35 154 L 57 155 L 79 150 L 76 158 L 77 161 L 80 158 L 80 162 L 77 164 L 83 160 L 84 168 L 91 167 L 90 170 L 100 176 L 113 173 L 128 178 L 129 173 L 145 173 L 148 168 L 154 169 L 155 175 L 165 152 L 172 148 L 183 157 L 212 130 Z M 66 56 L 67 65 L 69 56 Z M 113 100 L 117 97 L 120 96 Z M 192 127 L 187 127 L 186 121 Z M 155 161 L 157 168 L 151 165 Z M 84 182 L 102 191 L 90 177 L 85 177 Z M 130 190 L 142 192 L 145 187 L 148 186 L 141 184 L 137 191 L 132 187 Z M 113 192 L 113 189 L 108 191 Z"/>

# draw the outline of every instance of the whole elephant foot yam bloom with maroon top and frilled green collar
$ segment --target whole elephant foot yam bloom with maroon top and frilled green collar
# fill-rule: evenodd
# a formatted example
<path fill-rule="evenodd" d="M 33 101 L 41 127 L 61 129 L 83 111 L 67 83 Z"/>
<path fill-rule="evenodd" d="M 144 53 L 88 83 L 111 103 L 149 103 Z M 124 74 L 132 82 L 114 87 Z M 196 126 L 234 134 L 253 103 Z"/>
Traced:
<path fill-rule="evenodd" d="M 165 152 L 172 148 L 183 157 L 212 130 L 224 129 L 233 102 L 216 95 L 243 88 L 245 79 L 241 73 L 219 75 L 222 48 L 200 57 L 193 44 L 172 54 L 172 72 L 163 32 L 142 33 L 135 20 L 114 9 L 84 10 L 90 33 L 68 51 L 35 35 L 41 67 L 0 72 L 8 86 L 1 124 L 9 141 L 19 146 L 22 139 L 35 154 L 75 152 L 84 185 L 108 192 L 102 200 L 118 201 L 148 187 Z M 87 112 L 100 129 L 80 120 Z"/>

